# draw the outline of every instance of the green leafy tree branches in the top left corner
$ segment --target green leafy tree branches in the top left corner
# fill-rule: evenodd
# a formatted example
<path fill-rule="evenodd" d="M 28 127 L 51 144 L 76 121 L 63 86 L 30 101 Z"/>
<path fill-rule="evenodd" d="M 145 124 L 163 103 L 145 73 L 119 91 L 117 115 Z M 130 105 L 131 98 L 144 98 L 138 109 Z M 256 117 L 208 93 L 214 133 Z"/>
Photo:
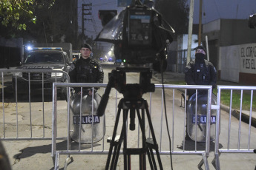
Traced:
<path fill-rule="evenodd" d="M 36 23 L 36 7 L 52 7 L 55 0 L 1 0 L 0 30 L 2 35 L 16 36 L 27 29 L 27 24 Z"/>

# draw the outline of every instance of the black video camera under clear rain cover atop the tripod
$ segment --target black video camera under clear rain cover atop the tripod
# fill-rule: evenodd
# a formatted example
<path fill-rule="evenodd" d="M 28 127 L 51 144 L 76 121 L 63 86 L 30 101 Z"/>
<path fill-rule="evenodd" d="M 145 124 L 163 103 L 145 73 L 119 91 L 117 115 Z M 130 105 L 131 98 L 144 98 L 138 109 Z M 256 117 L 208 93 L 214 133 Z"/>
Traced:
<path fill-rule="evenodd" d="M 157 10 L 136 1 L 105 24 L 95 41 L 113 43 L 116 59 L 125 64 L 148 64 L 165 59 L 166 40 L 173 41 L 173 33 Z"/>

